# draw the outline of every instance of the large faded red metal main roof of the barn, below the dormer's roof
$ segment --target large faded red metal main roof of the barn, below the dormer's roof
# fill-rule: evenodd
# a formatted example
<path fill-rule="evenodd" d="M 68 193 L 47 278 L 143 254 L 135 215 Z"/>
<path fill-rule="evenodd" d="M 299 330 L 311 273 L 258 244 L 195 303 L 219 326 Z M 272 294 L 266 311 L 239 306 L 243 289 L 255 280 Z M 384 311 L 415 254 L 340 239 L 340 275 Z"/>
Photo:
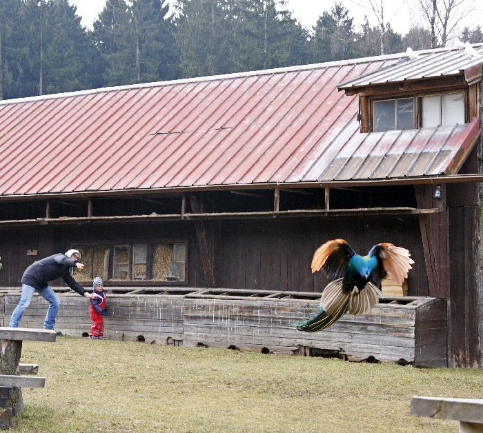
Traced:
<path fill-rule="evenodd" d="M 359 133 L 358 97 L 337 84 L 394 61 L 3 101 L 0 195 L 454 173 L 475 122 Z"/>

